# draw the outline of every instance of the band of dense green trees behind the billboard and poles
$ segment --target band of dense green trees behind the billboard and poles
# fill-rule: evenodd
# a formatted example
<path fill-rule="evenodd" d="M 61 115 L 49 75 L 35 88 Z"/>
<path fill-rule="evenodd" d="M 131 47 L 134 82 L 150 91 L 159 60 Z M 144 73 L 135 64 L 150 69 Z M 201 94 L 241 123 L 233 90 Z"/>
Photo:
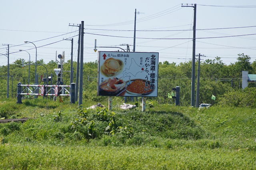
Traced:
<path fill-rule="evenodd" d="M 200 66 L 200 99 L 199 103 L 212 103 L 212 104 L 226 104 L 228 99 L 233 94 L 238 92 L 238 95 L 243 94 L 241 90 L 242 84 L 242 71 L 248 71 L 249 74 L 256 74 L 256 61 L 250 63 L 250 57 L 248 55 L 238 54 L 237 61 L 226 65 L 222 62 L 220 57 L 215 59 L 205 59 L 201 62 Z M 22 67 L 22 59 L 17 59 L 14 63 L 10 64 L 10 75 L 13 76 L 13 93 L 16 96 L 16 85 L 18 82 L 27 84 L 28 82 L 28 61 L 24 61 L 24 67 Z M 31 61 L 31 64 L 34 64 Z M 44 65 L 46 68 L 38 65 L 37 72 L 39 73 L 39 83 L 43 84 L 40 79 L 40 75 L 44 76 L 46 70 L 48 71 L 48 77 L 52 74 L 53 84 L 56 82 L 56 74 L 54 68 L 58 67 L 58 64 L 53 60 L 49 63 L 44 63 L 43 59 L 37 61 L 37 64 Z M 197 65 L 197 63 L 196 63 Z M 73 62 L 74 74 L 73 82 L 76 81 L 76 62 Z M 63 65 L 63 81 L 64 84 L 70 83 L 70 60 Z M 84 99 L 90 99 L 93 101 L 106 100 L 107 97 L 97 97 L 97 61 L 84 63 L 83 70 L 83 97 Z M 191 98 L 191 71 L 192 62 L 184 62 L 180 64 L 169 63 L 164 61 L 158 65 L 158 97 L 150 98 L 157 103 L 169 103 L 174 104 L 174 99 L 168 98 L 168 93 L 172 92 L 172 88 L 180 86 L 180 104 L 190 105 Z M 197 69 L 196 69 L 197 75 Z M 0 97 L 6 97 L 6 81 L 7 81 L 7 66 L 0 66 Z M 30 84 L 33 84 L 35 80 L 35 65 L 30 65 Z M 11 94 L 12 79 L 10 79 L 9 94 Z M 249 85 L 249 87 L 255 87 L 255 85 Z M 248 92 L 249 90 L 247 90 Z M 215 95 L 216 100 L 213 101 L 211 96 Z M 226 98 L 225 98 L 226 97 Z M 225 98 L 225 99 L 224 99 Z M 214 103 L 213 103 L 214 102 Z M 253 103 L 254 101 L 252 101 Z M 251 104 L 254 105 L 254 104 Z"/>

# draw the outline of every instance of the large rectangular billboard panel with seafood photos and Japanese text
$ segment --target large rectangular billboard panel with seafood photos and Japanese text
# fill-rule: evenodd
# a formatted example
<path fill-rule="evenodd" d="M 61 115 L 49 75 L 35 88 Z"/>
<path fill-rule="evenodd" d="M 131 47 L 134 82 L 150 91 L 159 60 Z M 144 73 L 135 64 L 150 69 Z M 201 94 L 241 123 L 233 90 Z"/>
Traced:
<path fill-rule="evenodd" d="M 98 51 L 99 96 L 157 97 L 158 53 Z"/>

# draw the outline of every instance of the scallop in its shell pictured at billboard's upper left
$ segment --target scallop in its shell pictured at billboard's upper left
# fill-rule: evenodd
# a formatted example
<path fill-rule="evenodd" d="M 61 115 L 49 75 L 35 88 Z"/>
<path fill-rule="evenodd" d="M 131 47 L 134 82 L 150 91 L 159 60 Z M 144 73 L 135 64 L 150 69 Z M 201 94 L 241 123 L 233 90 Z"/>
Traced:
<path fill-rule="evenodd" d="M 101 71 L 106 76 L 114 76 L 122 71 L 124 63 L 119 59 L 108 58 L 101 67 Z"/>

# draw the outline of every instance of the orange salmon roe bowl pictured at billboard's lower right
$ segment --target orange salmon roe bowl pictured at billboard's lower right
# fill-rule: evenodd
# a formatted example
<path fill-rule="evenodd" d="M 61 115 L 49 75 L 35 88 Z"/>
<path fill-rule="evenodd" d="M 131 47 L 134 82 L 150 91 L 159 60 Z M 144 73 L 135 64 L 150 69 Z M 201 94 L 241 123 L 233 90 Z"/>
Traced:
<path fill-rule="evenodd" d="M 143 80 L 135 80 L 130 85 L 127 86 L 126 91 L 131 93 L 138 93 L 138 94 L 145 94 L 150 93 L 153 89 L 149 89 L 149 82 L 148 86 L 146 87 L 146 82 Z"/>

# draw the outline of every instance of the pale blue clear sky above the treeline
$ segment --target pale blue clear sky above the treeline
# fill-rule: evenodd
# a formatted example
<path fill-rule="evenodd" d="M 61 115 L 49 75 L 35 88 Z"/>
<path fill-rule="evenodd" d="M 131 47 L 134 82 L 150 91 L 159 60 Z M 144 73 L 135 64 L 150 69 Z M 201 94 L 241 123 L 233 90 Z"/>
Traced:
<path fill-rule="evenodd" d="M 188 62 L 192 58 L 193 14 L 196 10 L 196 54 L 205 59 L 220 57 L 225 64 L 234 63 L 239 53 L 256 59 L 256 2 L 253 0 L 8 0 L 1 2 L 0 53 L 6 54 L 10 44 L 10 63 L 16 59 L 45 63 L 55 61 L 57 54 L 65 51 L 65 61 L 70 59 L 74 38 L 73 59 L 77 59 L 78 27 L 84 21 L 84 62 L 96 61 L 94 40 L 98 51 L 115 51 L 129 45 L 133 49 L 134 12 L 136 15 L 137 52 L 159 52 L 159 61 Z M 243 28 L 241 28 L 243 27 Z M 222 29 L 219 29 L 222 28 Z M 225 29 L 223 29 L 225 28 Z M 228 28 L 228 29 L 226 29 Z M 247 35 L 247 36 L 241 36 Z M 224 37 L 224 38 L 218 38 Z M 42 46 L 42 47 L 41 47 Z M 28 50 L 29 49 L 29 50 Z M 0 56 L 0 65 L 7 65 L 7 57 Z M 203 61 L 204 61 L 203 60 Z M 57 66 L 56 66 L 57 67 Z"/>

